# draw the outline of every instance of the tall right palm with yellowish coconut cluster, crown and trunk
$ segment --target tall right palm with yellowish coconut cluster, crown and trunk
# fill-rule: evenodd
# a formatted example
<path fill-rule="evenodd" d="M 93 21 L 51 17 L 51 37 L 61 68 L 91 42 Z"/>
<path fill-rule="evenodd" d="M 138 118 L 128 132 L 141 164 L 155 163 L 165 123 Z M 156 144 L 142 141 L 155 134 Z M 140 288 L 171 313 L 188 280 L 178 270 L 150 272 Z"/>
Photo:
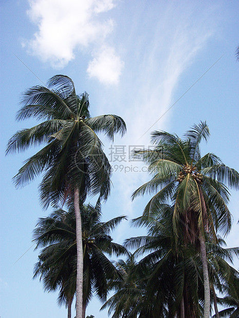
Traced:
<path fill-rule="evenodd" d="M 135 198 L 156 191 L 144 209 L 144 216 L 148 216 L 150 211 L 156 211 L 160 204 L 173 204 L 173 229 L 176 237 L 182 228 L 185 244 L 200 247 L 205 318 L 210 315 L 205 233 L 216 243 L 217 231 L 224 234 L 229 232 L 231 215 L 227 207 L 229 192 L 225 183 L 229 187 L 239 188 L 237 171 L 227 167 L 212 153 L 201 156 L 200 142 L 203 139 L 207 141 L 209 134 L 206 122 L 194 125 L 183 140 L 176 134 L 153 132 L 155 148 L 135 151 L 135 156 L 149 165 L 152 180 L 133 193 Z"/>

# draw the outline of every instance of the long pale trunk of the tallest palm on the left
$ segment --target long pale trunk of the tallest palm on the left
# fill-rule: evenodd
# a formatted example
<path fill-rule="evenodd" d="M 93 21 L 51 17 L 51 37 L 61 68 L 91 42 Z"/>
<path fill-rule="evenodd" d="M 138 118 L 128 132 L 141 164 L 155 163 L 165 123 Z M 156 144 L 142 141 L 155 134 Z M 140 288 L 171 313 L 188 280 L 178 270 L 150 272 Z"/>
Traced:
<path fill-rule="evenodd" d="M 83 301 L 83 248 L 82 248 L 82 226 L 79 202 L 79 189 L 74 190 L 74 208 L 76 214 L 76 237 L 77 237 L 77 292 L 76 292 L 76 318 L 82 318 Z"/>

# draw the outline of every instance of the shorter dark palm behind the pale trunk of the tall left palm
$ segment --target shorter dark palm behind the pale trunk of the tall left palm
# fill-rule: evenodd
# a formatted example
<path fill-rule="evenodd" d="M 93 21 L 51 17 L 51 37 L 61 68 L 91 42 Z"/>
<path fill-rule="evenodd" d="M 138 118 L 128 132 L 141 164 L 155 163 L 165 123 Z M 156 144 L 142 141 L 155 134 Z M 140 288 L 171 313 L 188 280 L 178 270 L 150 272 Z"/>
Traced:
<path fill-rule="evenodd" d="M 107 281 L 119 279 L 119 273 L 105 254 L 120 255 L 125 248 L 112 242 L 110 233 L 125 219 L 115 217 L 108 222 L 100 222 L 99 206 L 84 206 L 82 216 L 83 244 L 83 318 L 85 309 L 96 292 L 106 300 Z M 69 212 L 55 210 L 49 217 L 40 218 L 34 230 L 36 248 L 44 247 L 35 264 L 34 277 L 40 275 L 44 289 L 48 291 L 60 288 L 58 301 L 68 306 L 68 318 L 71 316 L 71 303 L 76 293 L 76 216 L 73 206 Z"/>

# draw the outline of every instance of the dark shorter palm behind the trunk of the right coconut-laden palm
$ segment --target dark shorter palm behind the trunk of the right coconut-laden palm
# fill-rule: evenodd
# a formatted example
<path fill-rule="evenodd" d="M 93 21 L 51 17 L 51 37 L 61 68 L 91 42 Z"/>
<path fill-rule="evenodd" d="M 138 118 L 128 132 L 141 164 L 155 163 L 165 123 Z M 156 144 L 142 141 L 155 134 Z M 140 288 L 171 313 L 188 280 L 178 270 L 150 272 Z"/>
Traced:
<path fill-rule="evenodd" d="M 141 275 L 141 280 L 146 281 L 146 296 L 141 297 L 134 310 L 139 310 L 140 307 L 139 312 L 142 313 L 143 309 L 150 308 L 153 317 L 202 317 L 204 287 L 201 257 L 194 245 L 184 244 L 182 232 L 178 240 L 175 240 L 173 211 L 173 207 L 161 205 L 157 214 L 150 213 L 147 217 L 140 216 L 133 220 L 136 226 L 148 229 L 148 235 L 126 240 L 127 248 L 137 249 L 134 255 L 139 256 L 146 252 L 146 256 L 132 270 L 135 277 Z M 222 245 L 225 245 L 222 238 L 218 238 L 217 244 L 206 241 L 215 311 L 217 306 L 214 287 L 220 292 L 228 291 L 238 276 L 238 272 L 227 261 L 232 263 L 233 256 L 239 256 L 239 248 L 223 248 Z M 139 283 L 138 281 L 137 284 Z"/>

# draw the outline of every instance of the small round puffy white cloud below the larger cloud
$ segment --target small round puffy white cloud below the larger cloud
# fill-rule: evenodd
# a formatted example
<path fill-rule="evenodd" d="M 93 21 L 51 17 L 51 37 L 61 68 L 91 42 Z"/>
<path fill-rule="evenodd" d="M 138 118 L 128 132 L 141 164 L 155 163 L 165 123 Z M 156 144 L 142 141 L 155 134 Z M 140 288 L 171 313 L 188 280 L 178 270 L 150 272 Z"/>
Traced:
<path fill-rule="evenodd" d="M 123 62 L 116 54 L 113 47 L 104 47 L 96 52 L 95 57 L 89 62 L 87 73 L 103 84 L 118 84 Z"/>

